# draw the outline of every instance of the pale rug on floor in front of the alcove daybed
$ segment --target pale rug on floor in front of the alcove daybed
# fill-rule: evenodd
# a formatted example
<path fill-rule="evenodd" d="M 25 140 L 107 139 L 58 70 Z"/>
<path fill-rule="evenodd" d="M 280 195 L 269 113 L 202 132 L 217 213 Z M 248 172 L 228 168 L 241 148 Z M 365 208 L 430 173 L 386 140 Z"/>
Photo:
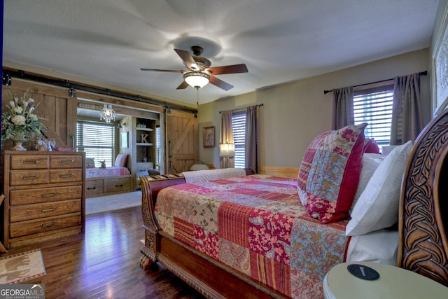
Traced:
<path fill-rule="evenodd" d="M 141 191 L 92 197 L 85 200 L 85 214 L 97 214 L 141 205 Z"/>

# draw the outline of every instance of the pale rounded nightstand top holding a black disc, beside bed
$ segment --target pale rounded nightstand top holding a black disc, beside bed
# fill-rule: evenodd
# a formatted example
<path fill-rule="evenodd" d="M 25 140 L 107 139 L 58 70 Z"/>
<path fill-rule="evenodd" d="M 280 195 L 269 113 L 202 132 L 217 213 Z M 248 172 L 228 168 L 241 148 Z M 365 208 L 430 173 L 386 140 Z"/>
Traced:
<path fill-rule="evenodd" d="M 355 277 L 347 266 L 358 264 L 378 272 L 376 280 Z M 366 269 L 360 270 L 363 273 Z M 412 271 L 368 262 L 342 263 L 332 267 L 323 279 L 325 299 L 351 298 L 448 298 L 448 288 Z"/>

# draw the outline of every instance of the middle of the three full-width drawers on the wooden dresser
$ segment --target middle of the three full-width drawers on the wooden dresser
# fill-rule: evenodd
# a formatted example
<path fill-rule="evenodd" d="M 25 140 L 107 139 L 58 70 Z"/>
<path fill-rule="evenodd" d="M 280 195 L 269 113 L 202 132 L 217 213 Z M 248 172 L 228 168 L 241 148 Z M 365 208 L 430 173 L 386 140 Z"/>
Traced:
<path fill-rule="evenodd" d="M 81 200 L 64 200 L 61 202 L 45 202 L 40 204 L 23 204 L 10 207 L 9 221 L 18 222 L 37 218 L 45 218 L 81 211 Z"/>

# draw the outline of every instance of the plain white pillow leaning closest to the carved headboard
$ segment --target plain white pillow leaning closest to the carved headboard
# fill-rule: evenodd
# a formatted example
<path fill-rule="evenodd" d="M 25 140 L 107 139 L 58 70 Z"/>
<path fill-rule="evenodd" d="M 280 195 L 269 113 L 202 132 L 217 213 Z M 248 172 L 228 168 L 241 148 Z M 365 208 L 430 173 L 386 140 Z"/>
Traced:
<path fill-rule="evenodd" d="M 411 148 L 412 141 L 407 141 L 381 162 L 353 207 L 345 235 L 364 235 L 398 221 L 401 181 Z"/>

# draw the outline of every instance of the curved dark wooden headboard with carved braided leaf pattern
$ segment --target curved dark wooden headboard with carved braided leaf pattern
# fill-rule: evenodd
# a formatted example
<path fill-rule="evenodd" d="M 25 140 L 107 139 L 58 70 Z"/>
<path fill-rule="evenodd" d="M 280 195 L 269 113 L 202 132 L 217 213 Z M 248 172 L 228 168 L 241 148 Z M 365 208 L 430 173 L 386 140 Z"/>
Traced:
<path fill-rule="evenodd" d="M 448 286 L 448 109 L 416 139 L 405 174 L 398 267 Z"/>

